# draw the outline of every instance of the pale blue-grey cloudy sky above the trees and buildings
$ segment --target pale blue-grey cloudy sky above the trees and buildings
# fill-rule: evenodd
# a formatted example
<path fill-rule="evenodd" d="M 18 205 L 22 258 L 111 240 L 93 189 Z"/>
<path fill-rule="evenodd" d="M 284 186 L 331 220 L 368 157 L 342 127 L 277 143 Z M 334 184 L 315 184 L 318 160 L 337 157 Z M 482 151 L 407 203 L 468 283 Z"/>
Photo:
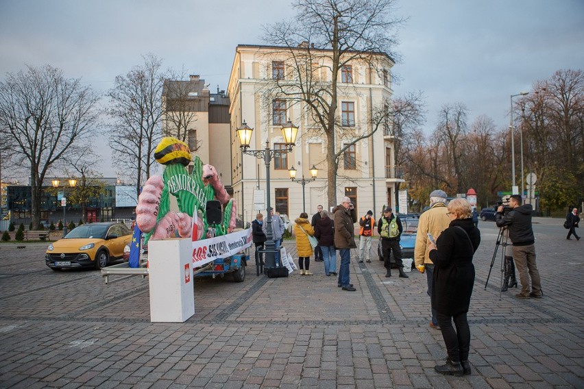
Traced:
<path fill-rule="evenodd" d="M 422 90 L 426 132 L 445 103 L 509 123 L 509 96 L 584 68 L 584 0 L 398 0 L 396 96 Z M 0 79 L 51 64 L 99 91 L 154 53 L 165 68 L 227 88 L 235 47 L 293 14 L 287 0 L 0 0 Z M 101 166 L 115 176 L 109 153 Z"/>

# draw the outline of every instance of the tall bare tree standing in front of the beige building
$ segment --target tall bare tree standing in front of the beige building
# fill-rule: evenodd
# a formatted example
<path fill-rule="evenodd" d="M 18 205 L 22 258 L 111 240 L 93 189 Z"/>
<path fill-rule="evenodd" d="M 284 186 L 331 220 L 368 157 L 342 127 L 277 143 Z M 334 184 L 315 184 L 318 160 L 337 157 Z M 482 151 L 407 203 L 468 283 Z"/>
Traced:
<path fill-rule="evenodd" d="M 329 205 L 337 202 L 340 156 L 366 138 L 348 138 L 346 133 L 337 131 L 342 130 L 337 117 L 339 72 L 343 66 L 363 63 L 369 66 L 371 76 L 375 71 L 383 72 L 380 65 L 385 64 L 386 71 L 393 65 L 389 55 L 396 38 L 392 34 L 401 23 L 391 15 L 394 2 L 297 0 L 293 3 L 297 10 L 293 20 L 265 27 L 265 40 L 282 47 L 282 54 L 288 57 L 285 62 L 290 77 L 276 79 L 275 92 L 291 105 L 306 110 L 326 139 Z M 367 130 L 363 129 L 362 134 Z"/>

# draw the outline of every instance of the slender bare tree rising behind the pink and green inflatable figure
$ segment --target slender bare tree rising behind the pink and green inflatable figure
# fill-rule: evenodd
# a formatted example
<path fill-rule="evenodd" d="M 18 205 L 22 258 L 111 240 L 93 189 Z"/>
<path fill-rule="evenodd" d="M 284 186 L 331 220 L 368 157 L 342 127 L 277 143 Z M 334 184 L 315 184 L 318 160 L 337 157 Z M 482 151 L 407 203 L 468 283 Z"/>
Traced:
<path fill-rule="evenodd" d="M 150 177 L 154 149 L 161 137 L 162 86 L 165 74 L 160 70 L 162 60 L 152 54 L 143 56 L 144 63 L 126 75 L 115 79 L 108 92 L 108 114 L 114 125 L 106 130 L 116 167 L 127 169 L 126 175 L 135 178 L 136 196 L 142 183 Z"/>

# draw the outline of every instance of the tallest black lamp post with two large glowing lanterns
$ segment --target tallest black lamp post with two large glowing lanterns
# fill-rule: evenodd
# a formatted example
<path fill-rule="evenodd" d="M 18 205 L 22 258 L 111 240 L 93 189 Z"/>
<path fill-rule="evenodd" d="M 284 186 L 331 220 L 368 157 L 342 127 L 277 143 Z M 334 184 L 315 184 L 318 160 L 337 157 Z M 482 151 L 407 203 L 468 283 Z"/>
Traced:
<path fill-rule="evenodd" d="M 271 214 L 269 212 L 270 206 L 270 190 L 269 190 L 269 164 L 272 158 L 277 155 L 282 155 L 290 153 L 292 147 L 296 142 L 296 135 L 298 133 L 298 127 L 292 124 L 291 121 L 287 121 L 282 127 L 282 135 L 284 136 L 284 143 L 286 149 L 283 150 L 272 150 L 269 147 L 269 140 L 266 140 L 266 147 L 263 150 L 249 150 L 250 142 L 252 140 L 252 132 L 254 129 L 250 128 L 245 121 L 241 124 L 241 127 L 236 129 L 235 132 L 239 138 L 241 152 L 247 155 L 254 155 L 254 157 L 264 160 L 266 165 L 266 191 L 267 191 L 267 218 L 266 218 L 266 243 L 265 243 L 265 271 L 269 268 L 276 266 L 276 243 L 273 241 L 273 230 L 271 227 Z"/>

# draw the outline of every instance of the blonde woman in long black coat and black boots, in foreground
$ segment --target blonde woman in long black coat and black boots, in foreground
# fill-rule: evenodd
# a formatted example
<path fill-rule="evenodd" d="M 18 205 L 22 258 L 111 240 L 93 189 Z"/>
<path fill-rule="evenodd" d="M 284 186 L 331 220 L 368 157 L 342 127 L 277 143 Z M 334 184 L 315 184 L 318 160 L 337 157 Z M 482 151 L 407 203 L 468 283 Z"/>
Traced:
<path fill-rule="evenodd" d="M 428 239 L 430 260 L 434 262 L 432 306 L 448 351 L 446 364 L 435 366 L 441 374 L 470 374 L 470 328 L 468 306 L 474 286 L 472 257 L 480 244 L 480 232 L 472 222 L 470 204 L 454 199 L 448 204 L 450 226 L 440 234 L 436 244 Z M 457 327 L 452 327 L 452 321 Z"/>

